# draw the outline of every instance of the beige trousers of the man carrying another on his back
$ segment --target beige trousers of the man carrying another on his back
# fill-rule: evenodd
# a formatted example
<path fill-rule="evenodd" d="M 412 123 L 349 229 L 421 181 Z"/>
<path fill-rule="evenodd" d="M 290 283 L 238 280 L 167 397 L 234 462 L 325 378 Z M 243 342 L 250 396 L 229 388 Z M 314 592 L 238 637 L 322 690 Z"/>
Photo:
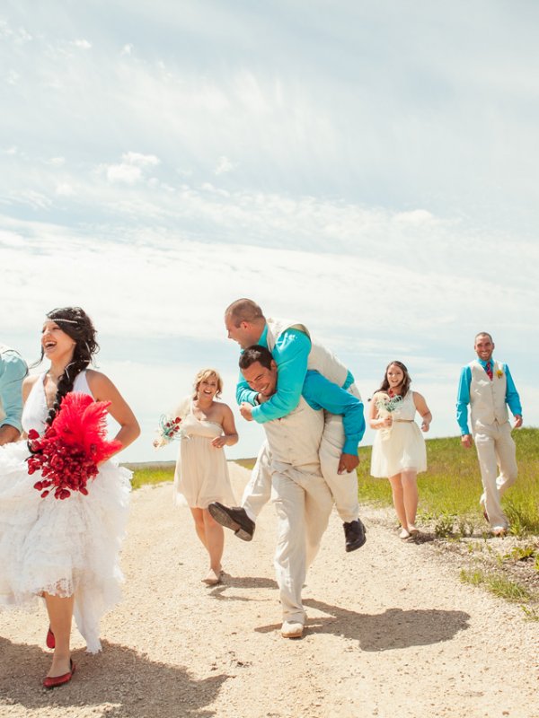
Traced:
<path fill-rule="evenodd" d="M 272 476 L 278 515 L 275 571 L 284 621 L 305 623 L 301 591 L 331 513 L 331 493 L 318 466 L 275 462 Z"/>

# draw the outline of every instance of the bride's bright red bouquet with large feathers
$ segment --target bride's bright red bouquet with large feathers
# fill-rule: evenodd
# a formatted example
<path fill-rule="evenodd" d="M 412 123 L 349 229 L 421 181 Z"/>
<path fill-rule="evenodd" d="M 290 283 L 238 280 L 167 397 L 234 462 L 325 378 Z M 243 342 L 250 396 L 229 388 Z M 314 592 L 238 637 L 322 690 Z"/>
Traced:
<path fill-rule="evenodd" d="M 121 449 L 120 442 L 106 438 L 109 406 L 110 401 L 94 401 L 88 394 L 71 391 L 42 436 L 34 429 L 28 433 L 32 451 L 28 473 L 41 471 L 34 488 L 43 498 L 53 489 L 57 499 L 68 498 L 72 491 L 88 495 L 86 484 L 97 475 L 97 465 Z"/>

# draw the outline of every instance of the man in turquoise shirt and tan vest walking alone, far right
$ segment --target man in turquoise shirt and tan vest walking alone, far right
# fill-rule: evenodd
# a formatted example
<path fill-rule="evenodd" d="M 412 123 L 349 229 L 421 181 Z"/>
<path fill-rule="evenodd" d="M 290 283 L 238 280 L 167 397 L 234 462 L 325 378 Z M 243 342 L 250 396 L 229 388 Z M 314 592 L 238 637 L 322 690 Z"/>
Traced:
<path fill-rule="evenodd" d="M 522 407 L 508 365 L 492 356 L 494 346 L 488 332 L 476 335 L 473 348 L 477 359 L 464 366 L 461 372 L 456 420 L 464 448 L 469 449 L 475 442 L 483 486 L 480 502 L 485 519 L 495 536 L 503 536 L 509 522 L 500 498 L 517 480 L 517 451 L 511 436 L 508 407 L 515 417 L 515 428 L 522 426 Z M 468 429 L 468 404 L 472 433 Z"/>

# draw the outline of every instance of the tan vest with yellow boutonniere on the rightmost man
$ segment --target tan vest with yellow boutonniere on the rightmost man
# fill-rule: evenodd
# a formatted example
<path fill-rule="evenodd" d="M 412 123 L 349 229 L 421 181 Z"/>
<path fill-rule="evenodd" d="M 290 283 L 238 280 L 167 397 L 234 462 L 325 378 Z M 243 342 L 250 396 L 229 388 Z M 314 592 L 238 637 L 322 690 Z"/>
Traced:
<path fill-rule="evenodd" d="M 470 407 L 473 431 L 494 424 L 495 421 L 505 424 L 509 420 L 506 404 L 508 380 L 502 364 L 496 361 L 493 364 L 492 381 L 478 361 L 474 360 L 468 364 L 472 370 Z"/>

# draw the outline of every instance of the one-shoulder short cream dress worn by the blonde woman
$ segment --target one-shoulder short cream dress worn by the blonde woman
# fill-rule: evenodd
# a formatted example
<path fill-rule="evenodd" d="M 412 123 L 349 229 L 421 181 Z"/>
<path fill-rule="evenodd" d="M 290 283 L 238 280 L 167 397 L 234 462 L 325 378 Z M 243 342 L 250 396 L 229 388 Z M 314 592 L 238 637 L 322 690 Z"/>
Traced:
<path fill-rule="evenodd" d="M 207 509 L 214 501 L 235 505 L 225 450 L 211 445 L 212 439 L 222 433 L 220 424 L 194 416 L 190 402 L 181 421 L 180 453 L 174 473 L 175 503 L 193 509 Z"/>

